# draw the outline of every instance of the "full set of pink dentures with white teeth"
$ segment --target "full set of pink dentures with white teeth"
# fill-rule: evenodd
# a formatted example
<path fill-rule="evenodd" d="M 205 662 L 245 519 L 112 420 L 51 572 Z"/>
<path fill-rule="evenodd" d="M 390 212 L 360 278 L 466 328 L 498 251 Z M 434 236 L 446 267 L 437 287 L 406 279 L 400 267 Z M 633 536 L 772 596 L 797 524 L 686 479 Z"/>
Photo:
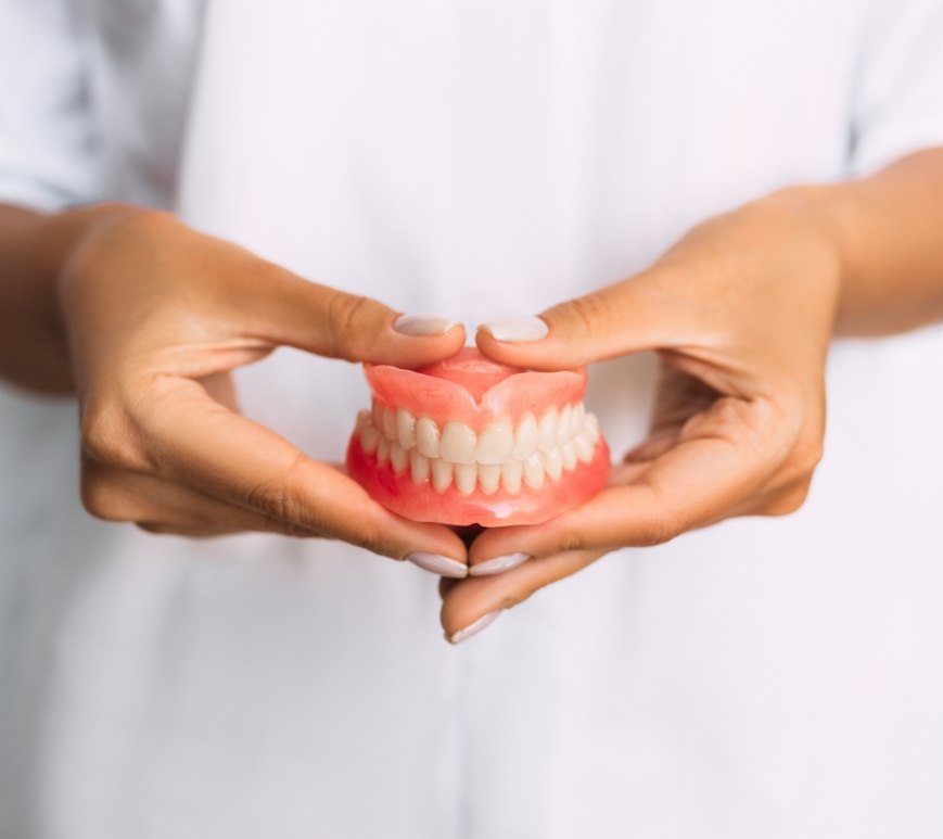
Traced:
<path fill-rule="evenodd" d="M 347 471 L 386 508 L 451 525 L 536 524 L 595 495 L 609 447 L 586 369 L 538 372 L 474 348 L 420 370 L 364 365 Z"/>

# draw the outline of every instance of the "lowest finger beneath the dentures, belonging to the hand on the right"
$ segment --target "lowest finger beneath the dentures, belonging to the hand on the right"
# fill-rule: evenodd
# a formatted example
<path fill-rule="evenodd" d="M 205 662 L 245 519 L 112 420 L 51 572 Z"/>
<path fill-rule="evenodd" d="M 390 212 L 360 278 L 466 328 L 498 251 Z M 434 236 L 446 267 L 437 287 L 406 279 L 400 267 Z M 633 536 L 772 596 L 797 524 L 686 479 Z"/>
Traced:
<path fill-rule="evenodd" d="M 439 620 L 445 636 L 456 643 L 463 630 L 486 615 L 510 609 L 545 586 L 582 571 L 604 550 L 570 550 L 534 559 L 495 576 L 457 580 L 443 596 Z"/>

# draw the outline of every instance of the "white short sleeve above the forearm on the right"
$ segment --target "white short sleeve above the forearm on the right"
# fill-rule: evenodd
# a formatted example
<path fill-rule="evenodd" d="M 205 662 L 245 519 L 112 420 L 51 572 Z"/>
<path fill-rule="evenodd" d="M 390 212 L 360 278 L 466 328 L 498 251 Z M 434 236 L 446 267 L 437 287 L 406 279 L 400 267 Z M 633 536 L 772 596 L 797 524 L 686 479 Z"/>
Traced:
<path fill-rule="evenodd" d="M 943 0 L 877 0 L 862 42 L 850 173 L 943 145 Z"/>

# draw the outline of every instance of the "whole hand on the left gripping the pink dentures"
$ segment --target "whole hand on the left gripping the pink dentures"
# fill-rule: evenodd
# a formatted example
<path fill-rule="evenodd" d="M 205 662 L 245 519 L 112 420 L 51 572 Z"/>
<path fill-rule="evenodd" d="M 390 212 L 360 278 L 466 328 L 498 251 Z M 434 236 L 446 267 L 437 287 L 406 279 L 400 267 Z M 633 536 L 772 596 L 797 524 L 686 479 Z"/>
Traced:
<path fill-rule="evenodd" d="M 80 232 L 58 291 L 80 406 L 81 495 L 93 516 L 158 533 L 269 531 L 466 562 L 447 527 L 394 516 L 336 467 L 240 416 L 230 378 L 279 345 L 418 367 L 457 352 L 460 326 L 400 334 L 386 306 L 164 213 L 71 213 Z"/>

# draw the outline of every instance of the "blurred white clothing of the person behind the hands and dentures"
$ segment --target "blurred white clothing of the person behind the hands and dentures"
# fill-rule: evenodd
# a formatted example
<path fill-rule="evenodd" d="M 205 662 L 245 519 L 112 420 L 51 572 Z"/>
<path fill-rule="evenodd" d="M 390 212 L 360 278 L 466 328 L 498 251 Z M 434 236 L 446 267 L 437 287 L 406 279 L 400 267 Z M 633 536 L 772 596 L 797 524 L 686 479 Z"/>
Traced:
<path fill-rule="evenodd" d="M 3 199 L 170 206 L 469 323 L 943 141 L 938 0 L 2 0 L 0 38 Z M 616 452 L 651 373 L 591 372 Z M 609 557 L 456 649 L 410 567 L 90 520 L 74 408 L 4 392 L 0 835 L 936 839 L 941 377 L 940 330 L 837 346 L 800 513 Z M 240 385 L 331 458 L 367 398 L 288 351 Z"/>

